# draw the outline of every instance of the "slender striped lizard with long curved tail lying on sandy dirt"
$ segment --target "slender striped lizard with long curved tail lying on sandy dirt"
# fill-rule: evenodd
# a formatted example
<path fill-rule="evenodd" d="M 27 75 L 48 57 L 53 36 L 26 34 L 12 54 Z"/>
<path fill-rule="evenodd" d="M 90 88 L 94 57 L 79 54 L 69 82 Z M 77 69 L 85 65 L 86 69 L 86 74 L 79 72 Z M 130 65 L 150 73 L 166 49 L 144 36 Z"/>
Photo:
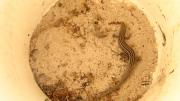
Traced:
<path fill-rule="evenodd" d="M 102 97 L 105 97 L 109 94 L 112 94 L 114 91 L 119 90 L 120 86 L 128 79 L 133 69 L 133 66 L 135 65 L 135 62 L 136 62 L 134 50 L 130 46 L 128 46 L 128 44 L 125 42 L 126 25 L 124 22 L 120 22 L 120 24 L 121 24 L 121 28 L 120 28 L 119 36 L 118 36 L 118 44 L 119 44 L 119 47 L 123 50 L 123 52 L 128 56 L 129 68 L 122 75 L 121 79 L 115 82 L 116 84 L 115 86 L 111 86 L 105 91 L 102 91 L 99 94 L 97 94 L 97 96 L 95 97 L 96 100 L 101 99 Z"/>

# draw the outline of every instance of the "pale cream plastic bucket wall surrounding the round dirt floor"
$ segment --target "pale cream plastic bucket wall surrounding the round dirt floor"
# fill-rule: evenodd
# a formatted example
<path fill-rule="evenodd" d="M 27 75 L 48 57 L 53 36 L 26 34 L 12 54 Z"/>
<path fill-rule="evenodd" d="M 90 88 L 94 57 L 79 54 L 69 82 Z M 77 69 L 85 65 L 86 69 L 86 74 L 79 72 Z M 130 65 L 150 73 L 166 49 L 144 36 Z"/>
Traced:
<path fill-rule="evenodd" d="M 29 42 L 34 28 L 56 1 L 0 1 L 0 101 L 45 101 L 47 98 L 29 66 Z M 131 1 L 148 16 L 158 44 L 153 84 L 140 101 L 179 101 L 180 0 Z"/>

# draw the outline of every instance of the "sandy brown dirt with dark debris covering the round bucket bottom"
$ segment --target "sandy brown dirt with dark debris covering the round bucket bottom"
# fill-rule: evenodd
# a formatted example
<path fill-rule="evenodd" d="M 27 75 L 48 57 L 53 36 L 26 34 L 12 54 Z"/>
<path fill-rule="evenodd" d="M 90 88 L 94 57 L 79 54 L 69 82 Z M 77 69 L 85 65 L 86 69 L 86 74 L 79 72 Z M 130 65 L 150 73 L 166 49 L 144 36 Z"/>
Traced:
<path fill-rule="evenodd" d="M 120 22 L 127 26 L 126 43 L 138 61 L 133 68 L 118 44 Z M 35 80 L 52 101 L 136 101 L 151 85 L 157 58 L 146 15 L 117 0 L 59 0 L 30 44 Z"/>

